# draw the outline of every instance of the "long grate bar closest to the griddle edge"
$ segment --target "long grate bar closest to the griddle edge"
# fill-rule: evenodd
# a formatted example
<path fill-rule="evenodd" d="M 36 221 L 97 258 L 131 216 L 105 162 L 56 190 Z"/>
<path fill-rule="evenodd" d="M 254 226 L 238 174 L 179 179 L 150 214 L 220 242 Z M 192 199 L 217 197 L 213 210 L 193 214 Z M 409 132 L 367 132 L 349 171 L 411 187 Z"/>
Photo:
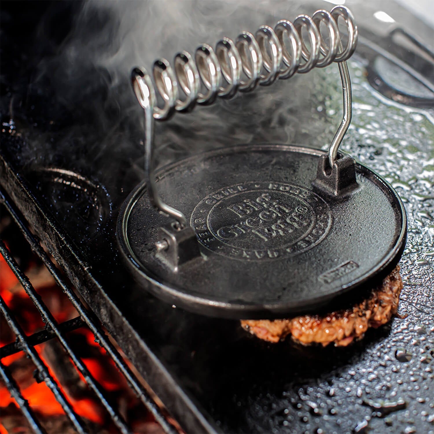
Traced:
<path fill-rule="evenodd" d="M 125 360 L 119 354 L 118 350 L 105 335 L 105 332 L 103 332 L 99 325 L 97 325 L 99 324 L 99 320 L 95 318 L 92 312 L 89 312 L 83 306 L 78 296 L 76 296 L 74 291 L 68 286 L 68 284 L 59 273 L 59 270 L 53 264 L 45 250 L 43 250 L 39 241 L 36 240 L 36 237 L 23 223 L 23 218 L 20 218 L 19 211 L 16 211 L 13 204 L 7 200 L 3 192 L 0 192 L 0 201 L 5 205 L 15 223 L 20 227 L 20 230 L 22 231 L 27 242 L 30 244 L 32 250 L 45 264 L 49 272 L 56 280 L 56 283 L 63 290 L 63 292 L 66 293 L 72 305 L 76 308 L 79 316 L 83 319 L 83 321 L 86 323 L 86 325 L 88 325 L 89 329 L 95 335 L 95 340 L 97 340 L 97 342 L 99 342 L 99 345 L 101 345 L 101 347 L 107 352 L 107 354 L 109 354 L 116 367 L 119 369 L 122 375 L 124 375 L 125 379 L 128 382 L 128 385 L 135 391 L 136 396 L 141 400 L 141 402 L 145 405 L 148 411 L 150 411 L 150 413 L 154 416 L 155 420 L 161 425 L 161 427 L 166 433 L 178 434 L 178 430 L 167 420 L 164 414 L 162 414 L 161 409 L 158 407 L 157 404 L 155 404 L 148 391 L 146 391 L 146 389 L 140 384 L 136 376 L 126 364 Z"/>

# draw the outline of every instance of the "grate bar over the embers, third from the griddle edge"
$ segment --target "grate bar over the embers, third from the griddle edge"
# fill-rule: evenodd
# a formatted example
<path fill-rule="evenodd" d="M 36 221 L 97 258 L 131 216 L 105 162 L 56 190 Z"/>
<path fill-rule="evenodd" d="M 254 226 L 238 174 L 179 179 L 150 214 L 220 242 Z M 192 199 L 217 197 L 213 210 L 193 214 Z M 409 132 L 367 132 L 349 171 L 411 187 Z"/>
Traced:
<path fill-rule="evenodd" d="M 3 254 L 3 250 L 5 250 L 6 256 Z M 3 242 L 0 243 L 0 251 L 3 255 L 6 262 L 9 264 L 9 260 L 11 259 L 11 256 L 7 249 L 4 247 Z M 12 258 L 13 259 L 13 258 Z M 12 267 L 11 267 L 12 268 Z M 16 322 L 15 318 L 12 315 L 12 312 L 7 307 L 6 303 L 4 302 L 3 298 L 0 297 L 0 310 L 3 313 L 6 321 L 8 322 L 10 328 L 15 333 L 16 338 L 21 344 L 21 349 L 32 359 L 32 362 L 36 366 L 36 369 L 39 372 L 40 378 L 43 378 L 46 385 L 49 387 L 49 389 L 53 392 L 54 396 L 56 397 L 57 401 L 59 401 L 59 404 L 62 406 L 63 411 L 65 411 L 66 416 L 68 416 L 71 423 L 74 425 L 75 429 L 79 432 L 84 434 L 85 433 L 85 425 L 83 424 L 82 419 L 79 417 L 78 414 L 74 411 L 69 401 L 66 399 L 65 395 L 63 395 L 63 392 L 60 390 L 59 385 L 56 383 L 54 378 L 49 374 L 48 369 L 46 368 L 46 365 L 42 361 L 42 359 L 39 357 L 39 354 L 37 353 L 36 349 L 34 349 L 28 342 L 27 336 L 24 333 L 24 330 L 20 327 L 20 325 Z"/>

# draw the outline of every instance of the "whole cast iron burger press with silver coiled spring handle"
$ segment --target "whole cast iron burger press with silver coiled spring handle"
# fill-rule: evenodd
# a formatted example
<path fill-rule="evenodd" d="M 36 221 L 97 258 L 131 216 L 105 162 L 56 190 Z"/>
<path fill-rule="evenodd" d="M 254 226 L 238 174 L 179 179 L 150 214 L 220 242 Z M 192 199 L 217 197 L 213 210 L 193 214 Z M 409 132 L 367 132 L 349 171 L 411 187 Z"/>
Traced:
<path fill-rule="evenodd" d="M 339 17 L 347 26 L 345 49 Z M 159 59 L 153 75 L 163 108 L 145 69 L 132 71 L 145 112 L 146 179 L 122 207 L 118 241 L 146 289 L 205 315 L 283 318 L 372 287 L 396 266 L 407 229 L 400 198 L 373 171 L 338 152 L 351 121 L 346 60 L 356 42 L 351 12 L 337 6 L 293 23 L 281 20 L 274 30 L 262 26 L 255 36 L 243 32 L 235 43 L 224 38 L 215 51 L 203 44 L 194 61 L 178 53 L 174 70 Z M 235 146 L 154 173 L 154 119 L 332 62 L 342 79 L 344 115 L 326 154 L 278 144 Z"/>

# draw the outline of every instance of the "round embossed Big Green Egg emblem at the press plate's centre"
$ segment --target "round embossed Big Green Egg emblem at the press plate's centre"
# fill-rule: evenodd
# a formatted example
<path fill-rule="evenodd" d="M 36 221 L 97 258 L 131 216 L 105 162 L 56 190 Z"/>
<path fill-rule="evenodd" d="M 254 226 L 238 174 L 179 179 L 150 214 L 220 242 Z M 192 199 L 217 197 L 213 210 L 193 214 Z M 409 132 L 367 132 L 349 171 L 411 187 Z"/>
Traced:
<path fill-rule="evenodd" d="M 329 206 L 306 188 L 247 182 L 214 191 L 191 216 L 199 242 L 221 255 L 245 260 L 293 256 L 329 232 Z"/>

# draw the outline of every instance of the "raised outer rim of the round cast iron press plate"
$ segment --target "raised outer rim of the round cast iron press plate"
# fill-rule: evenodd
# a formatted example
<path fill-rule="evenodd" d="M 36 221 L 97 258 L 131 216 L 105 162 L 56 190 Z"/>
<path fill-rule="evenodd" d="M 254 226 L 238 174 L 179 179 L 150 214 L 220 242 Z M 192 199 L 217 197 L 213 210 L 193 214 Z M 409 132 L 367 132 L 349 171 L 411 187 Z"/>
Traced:
<path fill-rule="evenodd" d="M 285 150 L 297 151 L 306 153 L 309 155 L 322 155 L 324 151 L 315 148 L 302 148 L 298 146 L 291 145 L 272 145 L 272 144 L 255 144 L 255 145 L 238 145 L 230 147 L 230 151 L 245 151 L 248 148 L 250 150 L 261 151 L 264 148 L 269 150 Z M 228 148 L 219 148 L 216 150 L 205 152 L 199 156 L 207 158 L 207 156 L 220 155 L 220 153 L 225 153 Z M 157 171 L 155 177 L 161 177 L 161 175 L 168 174 L 173 170 L 176 170 L 178 166 L 186 165 L 191 160 L 194 162 L 196 156 L 184 158 L 176 163 L 168 164 Z M 360 276 L 355 282 L 350 285 L 342 286 L 339 292 L 336 292 L 334 296 L 329 297 L 326 301 L 323 297 L 319 297 L 317 300 L 313 300 L 308 307 L 296 308 L 297 310 L 292 310 L 287 312 L 285 306 L 252 306 L 252 305 L 240 305 L 236 303 L 230 303 L 225 301 L 219 301 L 215 299 L 207 299 L 205 296 L 197 296 L 195 294 L 190 294 L 184 291 L 182 288 L 176 288 L 171 283 L 168 283 L 161 278 L 156 276 L 150 270 L 148 270 L 143 264 L 140 264 L 138 258 L 135 257 L 135 253 L 130 246 L 127 236 L 127 224 L 130 213 L 132 212 L 135 203 L 146 194 L 146 184 L 142 182 L 139 184 L 127 197 L 125 202 L 122 204 L 122 208 L 119 212 L 118 222 L 117 222 L 117 240 L 119 248 L 124 253 L 122 256 L 123 262 L 131 271 L 132 275 L 135 277 L 136 281 L 146 288 L 153 295 L 159 299 L 164 300 L 170 304 L 174 304 L 178 307 L 186 309 L 191 312 L 199 313 L 201 315 L 214 316 L 220 318 L 229 319 L 273 319 L 273 318 L 284 318 L 286 316 L 295 316 L 303 313 L 320 313 L 327 312 L 336 309 L 346 308 L 356 301 L 361 301 L 365 293 L 369 289 L 375 287 L 381 282 L 391 271 L 396 267 L 399 260 L 401 259 L 402 253 L 405 248 L 405 243 L 407 240 L 407 217 L 402 204 L 401 198 L 396 193 L 395 189 L 378 174 L 376 174 L 371 169 L 365 167 L 362 164 L 356 163 L 356 172 L 363 174 L 367 179 L 372 181 L 375 185 L 383 185 L 390 192 L 389 199 L 391 200 L 391 207 L 394 208 L 395 213 L 399 214 L 401 217 L 401 231 L 396 239 L 394 247 L 388 252 L 385 260 L 379 264 L 374 270 L 365 273 Z M 393 200 L 393 202 L 392 202 Z M 158 211 L 155 210 L 157 213 Z M 169 221 L 169 219 L 168 219 Z"/>

